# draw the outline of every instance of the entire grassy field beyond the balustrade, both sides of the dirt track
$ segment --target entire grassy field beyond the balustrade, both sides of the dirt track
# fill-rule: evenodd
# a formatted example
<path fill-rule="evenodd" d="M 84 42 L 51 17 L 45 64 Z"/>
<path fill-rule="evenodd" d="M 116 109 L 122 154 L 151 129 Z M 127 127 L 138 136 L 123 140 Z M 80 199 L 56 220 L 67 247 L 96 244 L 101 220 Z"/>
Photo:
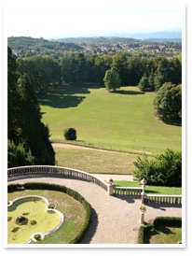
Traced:
<path fill-rule="evenodd" d="M 143 93 L 136 87 L 122 87 L 116 93 L 94 86 L 49 92 L 39 102 L 52 142 L 66 143 L 63 131 L 74 127 L 77 140 L 72 144 L 115 150 L 54 144 L 57 164 L 90 173 L 131 174 L 138 154 L 181 150 L 181 127 L 158 121 L 153 115 L 153 99 L 154 92 Z"/>

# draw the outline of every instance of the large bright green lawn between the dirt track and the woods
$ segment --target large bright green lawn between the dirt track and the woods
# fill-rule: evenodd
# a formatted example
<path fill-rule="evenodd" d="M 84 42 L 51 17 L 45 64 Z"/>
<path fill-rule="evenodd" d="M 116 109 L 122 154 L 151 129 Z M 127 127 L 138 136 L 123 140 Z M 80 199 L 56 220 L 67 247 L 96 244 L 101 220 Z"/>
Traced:
<path fill-rule="evenodd" d="M 158 121 L 153 99 L 154 92 L 141 93 L 136 87 L 117 93 L 67 87 L 39 102 L 52 141 L 64 142 L 63 130 L 74 127 L 76 143 L 82 145 L 150 154 L 181 150 L 181 127 Z"/>

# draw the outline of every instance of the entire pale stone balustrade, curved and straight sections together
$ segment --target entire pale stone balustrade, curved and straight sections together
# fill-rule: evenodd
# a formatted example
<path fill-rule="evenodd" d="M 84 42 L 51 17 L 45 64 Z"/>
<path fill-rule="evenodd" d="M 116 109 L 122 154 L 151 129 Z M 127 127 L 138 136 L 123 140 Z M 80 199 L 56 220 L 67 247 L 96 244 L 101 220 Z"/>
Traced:
<path fill-rule="evenodd" d="M 21 177 L 30 176 L 51 176 L 58 175 L 62 178 L 75 178 L 95 183 L 108 192 L 109 195 L 133 195 L 141 196 L 142 187 L 117 187 L 111 183 L 105 182 L 102 178 L 97 178 L 89 173 L 53 165 L 30 165 L 19 166 L 7 169 L 8 181 Z M 182 204 L 182 195 L 164 195 L 164 194 L 145 194 L 144 204 L 161 203 L 161 204 Z"/>

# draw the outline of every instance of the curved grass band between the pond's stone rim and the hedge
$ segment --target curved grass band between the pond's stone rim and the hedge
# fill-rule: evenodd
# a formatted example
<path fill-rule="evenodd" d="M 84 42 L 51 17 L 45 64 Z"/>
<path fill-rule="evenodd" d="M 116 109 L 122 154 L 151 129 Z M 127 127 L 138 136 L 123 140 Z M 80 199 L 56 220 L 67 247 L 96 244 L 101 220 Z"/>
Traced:
<path fill-rule="evenodd" d="M 64 215 L 62 226 L 50 235 L 46 235 L 42 244 L 68 244 L 79 234 L 85 220 L 85 209 L 73 197 L 63 192 L 44 190 L 25 190 L 9 192 L 8 200 L 13 200 L 24 195 L 42 195 L 48 198 L 50 204 L 57 206 Z"/>

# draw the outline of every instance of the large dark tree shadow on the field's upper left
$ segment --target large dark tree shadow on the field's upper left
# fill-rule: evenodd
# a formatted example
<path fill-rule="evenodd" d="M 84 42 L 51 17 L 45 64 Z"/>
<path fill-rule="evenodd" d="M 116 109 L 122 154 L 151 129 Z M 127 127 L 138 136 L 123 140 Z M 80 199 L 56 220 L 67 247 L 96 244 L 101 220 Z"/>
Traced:
<path fill-rule="evenodd" d="M 46 96 L 39 99 L 39 104 L 42 106 L 67 108 L 77 107 L 85 98 L 84 95 L 75 95 L 75 93 L 87 94 L 88 88 L 66 88 L 57 89 L 48 92 Z"/>

